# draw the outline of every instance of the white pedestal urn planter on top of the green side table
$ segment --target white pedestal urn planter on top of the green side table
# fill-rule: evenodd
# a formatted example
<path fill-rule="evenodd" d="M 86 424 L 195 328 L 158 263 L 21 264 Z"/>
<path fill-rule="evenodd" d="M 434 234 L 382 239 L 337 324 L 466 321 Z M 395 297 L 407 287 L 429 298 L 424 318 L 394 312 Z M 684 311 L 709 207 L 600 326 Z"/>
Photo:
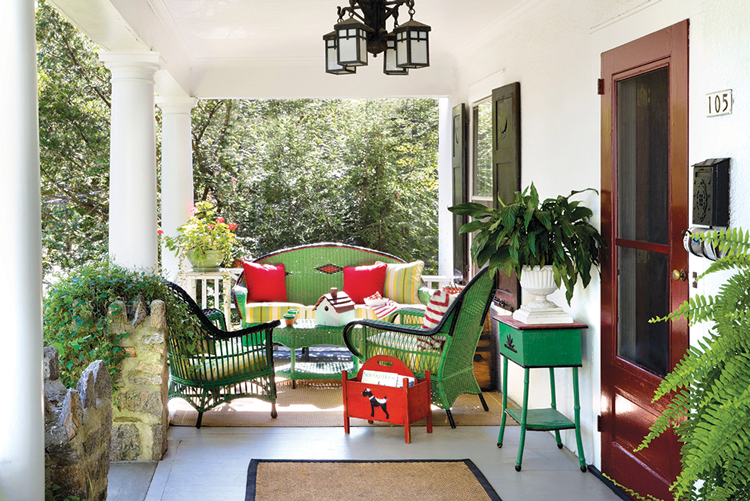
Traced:
<path fill-rule="evenodd" d="M 513 318 L 525 324 L 572 324 L 573 317 L 552 301 L 548 294 L 557 290 L 555 273 L 551 265 L 524 266 L 521 270 L 521 288 L 532 299 L 513 313 Z"/>

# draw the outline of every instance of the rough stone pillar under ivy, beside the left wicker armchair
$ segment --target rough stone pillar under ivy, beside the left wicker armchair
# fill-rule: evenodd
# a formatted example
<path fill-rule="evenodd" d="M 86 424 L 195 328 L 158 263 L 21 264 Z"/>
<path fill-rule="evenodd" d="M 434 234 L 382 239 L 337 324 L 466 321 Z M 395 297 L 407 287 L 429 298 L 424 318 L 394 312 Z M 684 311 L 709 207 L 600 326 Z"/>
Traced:
<path fill-rule="evenodd" d="M 113 333 L 127 334 L 120 346 L 129 354 L 115 384 L 112 461 L 158 461 L 167 451 L 169 368 L 163 301 L 153 301 L 150 314 L 139 301 L 132 315 L 122 302 L 110 307 Z"/>

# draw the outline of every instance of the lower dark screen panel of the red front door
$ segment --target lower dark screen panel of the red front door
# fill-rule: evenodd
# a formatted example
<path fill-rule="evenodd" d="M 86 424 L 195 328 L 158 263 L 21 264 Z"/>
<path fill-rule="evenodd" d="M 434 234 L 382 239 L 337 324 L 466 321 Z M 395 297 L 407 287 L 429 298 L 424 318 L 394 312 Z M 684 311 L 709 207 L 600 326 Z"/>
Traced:
<path fill-rule="evenodd" d="M 669 323 L 648 323 L 669 313 L 669 256 L 620 247 L 617 355 L 660 376 L 669 369 Z"/>

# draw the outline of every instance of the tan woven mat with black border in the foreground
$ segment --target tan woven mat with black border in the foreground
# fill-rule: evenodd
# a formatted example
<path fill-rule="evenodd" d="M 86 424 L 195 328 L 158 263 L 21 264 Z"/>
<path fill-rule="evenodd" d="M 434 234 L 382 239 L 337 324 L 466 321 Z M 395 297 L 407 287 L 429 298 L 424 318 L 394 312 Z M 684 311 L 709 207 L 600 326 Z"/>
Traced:
<path fill-rule="evenodd" d="M 502 501 L 468 459 L 298 461 L 253 459 L 245 501 Z"/>

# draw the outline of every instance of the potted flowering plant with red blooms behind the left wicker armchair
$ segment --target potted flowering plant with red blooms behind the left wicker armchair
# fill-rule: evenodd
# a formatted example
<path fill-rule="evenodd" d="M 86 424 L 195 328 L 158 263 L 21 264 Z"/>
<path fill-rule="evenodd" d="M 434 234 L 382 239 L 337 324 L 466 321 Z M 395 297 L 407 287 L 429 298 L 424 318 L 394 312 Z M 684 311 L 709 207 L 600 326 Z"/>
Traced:
<path fill-rule="evenodd" d="M 194 270 L 214 270 L 231 257 L 236 229 L 237 223 L 217 216 L 213 202 L 198 202 L 187 222 L 177 228 L 177 235 L 165 235 L 164 243 L 176 255 L 186 257 Z M 159 235 L 164 232 L 159 230 Z"/>

